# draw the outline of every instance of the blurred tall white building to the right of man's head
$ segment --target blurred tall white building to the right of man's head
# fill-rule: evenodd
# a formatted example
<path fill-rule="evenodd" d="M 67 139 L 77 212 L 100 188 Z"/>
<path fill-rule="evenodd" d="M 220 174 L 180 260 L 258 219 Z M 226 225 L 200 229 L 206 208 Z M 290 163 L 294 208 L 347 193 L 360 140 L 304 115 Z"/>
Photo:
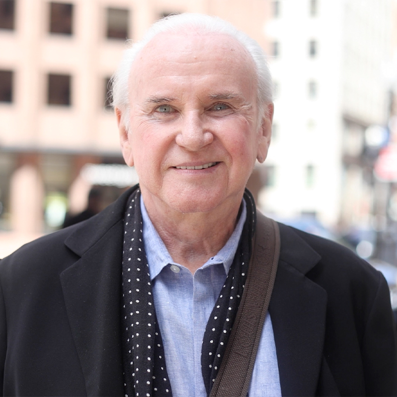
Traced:
<path fill-rule="evenodd" d="M 272 5 L 265 33 L 276 87 L 274 134 L 262 202 L 270 212 L 288 209 L 329 225 L 367 227 L 376 189 L 366 131 L 382 134 L 389 120 L 384 68 L 395 2 Z"/>

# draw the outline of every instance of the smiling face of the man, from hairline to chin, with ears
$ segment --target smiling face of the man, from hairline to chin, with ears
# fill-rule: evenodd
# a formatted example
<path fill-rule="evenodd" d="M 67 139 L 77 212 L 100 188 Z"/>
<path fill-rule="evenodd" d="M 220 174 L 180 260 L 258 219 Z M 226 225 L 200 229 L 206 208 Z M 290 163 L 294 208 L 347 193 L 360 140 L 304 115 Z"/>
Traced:
<path fill-rule="evenodd" d="M 272 117 L 269 105 L 259 121 L 245 49 L 227 35 L 163 33 L 131 76 L 131 129 L 119 124 L 121 144 L 149 213 L 238 208 L 256 158 L 265 160 Z"/>

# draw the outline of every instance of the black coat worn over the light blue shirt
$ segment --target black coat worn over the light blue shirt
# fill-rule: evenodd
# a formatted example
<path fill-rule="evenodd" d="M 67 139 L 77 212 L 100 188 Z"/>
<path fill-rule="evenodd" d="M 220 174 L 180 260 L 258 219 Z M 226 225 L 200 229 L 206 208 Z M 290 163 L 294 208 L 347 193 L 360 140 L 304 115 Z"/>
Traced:
<path fill-rule="evenodd" d="M 3 395 L 124 396 L 121 263 L 130 194 L 0 262 Z M 335 243 L 279 226 L 269 312 L 282 395 L 396 396 L 397 337 L 384 277 Z"/>

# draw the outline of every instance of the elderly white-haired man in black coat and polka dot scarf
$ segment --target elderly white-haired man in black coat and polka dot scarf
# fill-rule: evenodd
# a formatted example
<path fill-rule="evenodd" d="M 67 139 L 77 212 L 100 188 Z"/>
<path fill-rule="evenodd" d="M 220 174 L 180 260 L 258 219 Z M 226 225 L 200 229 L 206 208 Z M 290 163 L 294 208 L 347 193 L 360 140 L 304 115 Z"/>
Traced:
<path fill-rule="evenodd" d="M 270 143 L 265 57 L 222 20 L 173 16 L 127 50 L 114 98 L 139 186 L 0 262 L 4 395 L 209 396 L 229 360 L 262 230 L 245 185 Z M 278 228 L 244 393 L 396 395 L 382 275 L 330 241 Z"/>

